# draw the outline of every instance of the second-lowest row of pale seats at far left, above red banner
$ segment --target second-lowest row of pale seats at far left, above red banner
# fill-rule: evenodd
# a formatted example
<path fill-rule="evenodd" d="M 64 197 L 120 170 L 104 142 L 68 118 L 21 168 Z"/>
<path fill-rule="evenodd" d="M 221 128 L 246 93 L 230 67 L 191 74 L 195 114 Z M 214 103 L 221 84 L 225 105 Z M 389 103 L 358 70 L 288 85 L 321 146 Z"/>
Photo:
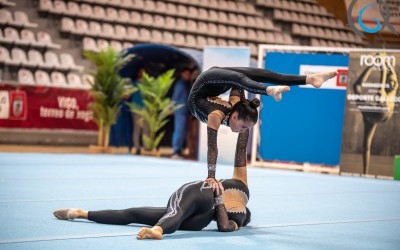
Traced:
<path fill-rule="evenodd" d="M 83 67 L 76 65 L 74 58 L 68 53 L 58 54 L 52 51 L 47 51 L 44 57 L 41 52 L 37 50 L 29 50 L 25 53 L 20 48 L 13 48 L 11 55 L 8 49 L 0 46 L 0 63 L 15 66 L 15 67 L 31 67 L 41 69 L 55 69 L 55 70 L 74 70 L 82 71 Z"/>

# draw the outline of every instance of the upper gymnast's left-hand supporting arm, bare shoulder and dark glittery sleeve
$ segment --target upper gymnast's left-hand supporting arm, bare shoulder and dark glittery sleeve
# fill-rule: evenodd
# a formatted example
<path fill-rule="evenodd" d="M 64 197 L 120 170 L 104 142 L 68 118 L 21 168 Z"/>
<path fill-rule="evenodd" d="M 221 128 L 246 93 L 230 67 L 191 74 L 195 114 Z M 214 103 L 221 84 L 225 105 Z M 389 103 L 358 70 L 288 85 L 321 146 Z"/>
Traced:
<path fill-rule="evenodd" d="M 218 129 L 221 125 L 221 121 L 224 118 L 224 113 L 215 110 L 208 115 L 207 120 L 207 165 L 208 165 L 208 176 L 207 179 L 215 179 L 215 172 L 217 166 L 218 157 L 218 145 L 217 136 Z"/>

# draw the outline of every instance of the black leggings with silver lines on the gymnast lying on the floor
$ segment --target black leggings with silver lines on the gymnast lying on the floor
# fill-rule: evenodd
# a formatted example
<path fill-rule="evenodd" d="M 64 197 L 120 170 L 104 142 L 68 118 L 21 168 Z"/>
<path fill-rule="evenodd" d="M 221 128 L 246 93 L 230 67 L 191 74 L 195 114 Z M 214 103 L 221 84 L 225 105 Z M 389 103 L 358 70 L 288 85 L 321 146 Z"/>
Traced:
<path fill-rule="evenodd" d="M 207 185 L 206 188 L 204 185 Z M 196 181 L 180 187 L 166 208 L 138 207 L 124 210 L 89 211 L 88 220 L 103 224 L 131 223 L 160 226 L 165 234 L 176 230 L 199 231 L 214 218 L 214 195 L 208 184 Z"/>

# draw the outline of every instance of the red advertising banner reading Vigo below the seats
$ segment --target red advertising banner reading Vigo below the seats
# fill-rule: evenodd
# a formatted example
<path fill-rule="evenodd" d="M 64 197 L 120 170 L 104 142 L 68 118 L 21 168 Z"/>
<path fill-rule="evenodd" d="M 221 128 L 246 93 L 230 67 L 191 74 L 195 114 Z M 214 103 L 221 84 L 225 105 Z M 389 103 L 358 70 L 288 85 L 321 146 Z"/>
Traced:
<path fill-rule="evenodd" d="M 0 86 L 0 128 L 97 130 L 88 91 Z"/>

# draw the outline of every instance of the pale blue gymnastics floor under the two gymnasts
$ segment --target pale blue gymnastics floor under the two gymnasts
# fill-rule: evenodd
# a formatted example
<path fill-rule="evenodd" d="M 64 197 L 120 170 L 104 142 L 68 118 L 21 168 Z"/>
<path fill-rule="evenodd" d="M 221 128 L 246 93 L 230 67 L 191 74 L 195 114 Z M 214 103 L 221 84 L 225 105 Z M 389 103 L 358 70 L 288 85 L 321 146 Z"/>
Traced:
<path fill-rule="evenodd" d="M 218 178 L 232 167 L 218 166 Z M 140 225 L 61 221 L 59 208 L 165 206 L 204 163 L 130 155 L 0 153 L 0 249 L 400 249 L 400 182 L 249 168 L 252 221 L 161 241 Z"/>

